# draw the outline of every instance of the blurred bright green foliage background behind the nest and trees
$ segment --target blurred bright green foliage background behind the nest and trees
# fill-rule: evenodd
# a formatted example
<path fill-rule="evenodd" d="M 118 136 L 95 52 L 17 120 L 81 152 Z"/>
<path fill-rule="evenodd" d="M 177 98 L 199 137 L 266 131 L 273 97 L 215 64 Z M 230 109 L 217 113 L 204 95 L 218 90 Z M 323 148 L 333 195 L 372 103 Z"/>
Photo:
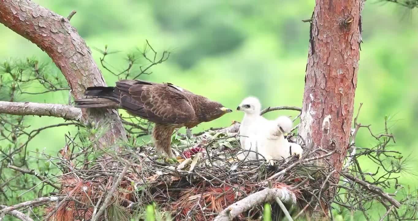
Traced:
<path fill-rule="evenodd" d="M 153 67 L 143 80 L 171 82 L 194 93 L 217 100 L 234 109 L 243 98 L 254 95 L 263 107 L 301 106 L 308 54 L 309 23 L 314 0 L 34 0 L 67 16 L 77 13 L 71 24 L 79 31 L 99 62 L 101 54 L 93 49 L 121 51 L 106 61 L 117 70 L 126 67 L 125 55 L 142 48 L 145 39 L 157 51 L 172 52 L 168 61 Z M 410 166 L 418 167 L 414 150 L 418 146 L 418 18 L 417 12 L 379 0 L 367 0 L 363 10 L 363 44 L 360 52 L 355 113 L 362 124 L 372 124 L 382 132 L 385 115 L 390 116 L 390 131 L 397 149 L 412 154 Z M 0 60 L 36 56 L 50 62 L 46 53 L 23 37 L 0 26 Z M 99 65 L 99 67 L 101 67 Z M 108 85 L 117 78 L 104 70 Z M 54 68 L 53 72 L 59 72 Z M 36 91 L 41 88 L 32 88 Z M 21 95 L 19 101 L 68 103 L 67 92 Z M 296 116 L 294 111 L 267 115 Z M 240 121 L 242 112 L 229 113 L 193 132 L 211 126 L 228 126 Z M 59 123 L 61 119 L 30 117 L 33 127 Z M 32 149 L 51 154 L 64 146 L 64 133 L 72 128 L 43 131 L 32 142 Z M 370 147 L 375 139 L 367 130 L 357 135 L 357 146 Z M 375 171 L 376 168 L 370 168 Z M 404 174 L 402 184 L 415 187 L 417 177 Z"/>

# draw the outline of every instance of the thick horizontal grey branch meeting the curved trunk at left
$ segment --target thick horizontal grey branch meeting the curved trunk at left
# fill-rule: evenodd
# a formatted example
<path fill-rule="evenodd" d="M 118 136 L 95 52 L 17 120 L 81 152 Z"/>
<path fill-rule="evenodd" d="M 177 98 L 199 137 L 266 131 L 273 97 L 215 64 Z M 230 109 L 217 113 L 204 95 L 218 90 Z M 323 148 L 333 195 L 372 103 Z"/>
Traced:
<path fill-rule="evenodd" d="M 82 120 L 82 111 L 80 108 L 61 104 L 0 101 L 0 113 L 21 116 L 51 116 L 74 121 Z"/>

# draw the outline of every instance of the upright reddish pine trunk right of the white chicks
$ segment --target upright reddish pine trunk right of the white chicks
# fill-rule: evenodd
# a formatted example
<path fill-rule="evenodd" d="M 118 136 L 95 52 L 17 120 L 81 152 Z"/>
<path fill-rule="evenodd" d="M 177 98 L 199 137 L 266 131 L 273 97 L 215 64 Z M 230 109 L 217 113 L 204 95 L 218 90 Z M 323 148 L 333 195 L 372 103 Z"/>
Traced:
<path fill-rule="evenodd" d="M 316 0 L 311 21 L 299 135 L 306 144 L 336 151 L 324 159 L 337 171 L 334 177 L 349 146 L 363 5 L 363 0 Z"/>

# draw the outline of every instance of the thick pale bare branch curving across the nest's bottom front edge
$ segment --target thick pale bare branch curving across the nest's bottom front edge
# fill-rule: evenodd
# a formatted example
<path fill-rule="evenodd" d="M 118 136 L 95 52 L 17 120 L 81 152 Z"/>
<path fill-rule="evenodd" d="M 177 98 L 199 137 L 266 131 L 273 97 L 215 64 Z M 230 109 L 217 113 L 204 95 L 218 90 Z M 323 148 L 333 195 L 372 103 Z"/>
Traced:
<path fill-rule="evenodd" d="M 214 218 L 214 221 L 229 221 L 233 218 L 239 216 L 241 213 L 258 206 L 265 202 L 273 202 L 275 198 L 279 198 L 282 202 L 285 203 L 296 203 L 296 195 L 289 191 L 287 188 L 265 188 L 257 193 L 253 193 L 246 198 L 233 203 L 231 206 L 228 206 L 224 209 L 217 217 Z"/>

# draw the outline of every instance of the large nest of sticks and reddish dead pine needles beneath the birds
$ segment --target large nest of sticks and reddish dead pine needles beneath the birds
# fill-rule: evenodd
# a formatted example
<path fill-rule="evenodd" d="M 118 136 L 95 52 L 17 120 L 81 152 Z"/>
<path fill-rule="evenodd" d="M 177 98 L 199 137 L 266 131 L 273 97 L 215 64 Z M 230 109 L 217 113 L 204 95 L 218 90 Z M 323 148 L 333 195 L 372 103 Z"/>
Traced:
<path fill-rule="evenodd" d="M 212 220 L 232 203 L 269 187 L 285 188 L 291 196 L 288 207 L 296 208 L 297 199 L 304 200 L 304 192 L 299 188 L 311 191 L 320 188 L 314 178 L 321 175 L 321 167 L 314 161 L 319 157 L 303 161 L 293 157 L 275 161 L 273 165 L 261 155 L 258 160 L 237 160 L 236 155 L 242 152 L 237 126 L 233 125 L 229 130 L 208 131 L 193 139 L 174 137 L 173 149 L 178 155 L 187 157 L 179 159 L 181 163 L 156 154 L 152 145 L 146 145 L 114 155 L 108 152 L 112 160 L 107 164 L 86 164 L 71 157 L 67 146 L 67 150 L 61 151 L 61 168 L 69 175 L 60 180 L 61 194 L 72 193 L 79 202 L 66 203 L 66 208 L 74 207 L 72 217 L 81 217 L 76 211 L 85 211 L 84 218 L 91 218 L 94 206 L 110 190 L 127 162 L 131 168 L 114 193 L 111 206 L 118 203 L 127 213 L 155 202 L 160 211 L 171 213 L 176 220 Z M 311 155 L 318 154 L 330 155 L 320 149 Z M 104 169 L 111 164 L 111 169 Z M 240 217 L 260 219 L 263 208 L 254 206 Z M 56 205 L 48 207 L 46 216 L 54 208 Z M 58 218 L 59 213 L 60 210 L 56 211 L 53 217 Z"/>

